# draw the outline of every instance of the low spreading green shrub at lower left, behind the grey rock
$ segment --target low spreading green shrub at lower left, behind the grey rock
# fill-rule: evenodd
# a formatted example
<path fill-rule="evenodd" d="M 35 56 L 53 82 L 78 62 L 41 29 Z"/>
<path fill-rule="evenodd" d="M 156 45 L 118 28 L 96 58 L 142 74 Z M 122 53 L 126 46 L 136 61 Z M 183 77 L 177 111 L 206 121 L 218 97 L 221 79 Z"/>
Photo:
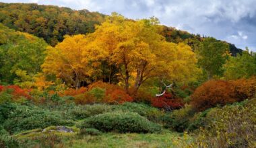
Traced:
<path fill-rule="evenodd" d="M 71 125 L 71 120 L 66 120 L 59 112 L 51 112 L 35 106 L 17 106 L 3 126 L 9 133 L 44 128 L 51 125 Z"/>

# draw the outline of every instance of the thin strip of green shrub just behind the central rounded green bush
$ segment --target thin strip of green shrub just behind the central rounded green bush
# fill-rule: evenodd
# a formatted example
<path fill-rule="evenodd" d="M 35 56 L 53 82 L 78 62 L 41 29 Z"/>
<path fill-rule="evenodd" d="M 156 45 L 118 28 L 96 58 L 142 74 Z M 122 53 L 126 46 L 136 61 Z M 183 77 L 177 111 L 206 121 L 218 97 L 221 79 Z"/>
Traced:
<path fill-rule="evenodd" d="M 153 108 L 146 104 L 126 102 L 122 105 L 114 106 L 113 110 L 122 110 L 123 112 L 136 112 L 141 116 L 148 118 L 154 122 L 160 122 L 160 118 L 164 116 L 164 112 L 158 108 Z"/>

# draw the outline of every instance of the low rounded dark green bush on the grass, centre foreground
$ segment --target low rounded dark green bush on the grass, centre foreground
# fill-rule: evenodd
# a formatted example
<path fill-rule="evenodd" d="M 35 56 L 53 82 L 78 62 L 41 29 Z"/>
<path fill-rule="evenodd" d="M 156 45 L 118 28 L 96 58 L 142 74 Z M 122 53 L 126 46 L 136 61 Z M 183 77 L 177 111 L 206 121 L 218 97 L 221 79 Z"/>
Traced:
<path fill-rule="evenodd" d="M 118 133 L 154 133 L 161 131 L 161 126 L 134 112 L 106 112 L 87 118 L 84 126 L 100 131 Z"/>

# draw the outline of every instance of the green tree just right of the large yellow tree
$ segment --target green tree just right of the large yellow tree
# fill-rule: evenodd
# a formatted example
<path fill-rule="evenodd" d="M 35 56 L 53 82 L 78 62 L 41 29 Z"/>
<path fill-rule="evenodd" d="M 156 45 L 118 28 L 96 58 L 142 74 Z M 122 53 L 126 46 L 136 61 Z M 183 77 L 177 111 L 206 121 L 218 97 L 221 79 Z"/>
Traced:
<path fill-rule="evenodd" d="M 207 72 L 208 79 L 214 75 L 222 76 L 222 65 L 224 65 L 229 53 L 227 43 L 220 42 L 215 38 L 205 38 L 195 52 L 197 53 L 198 64 Z"/>

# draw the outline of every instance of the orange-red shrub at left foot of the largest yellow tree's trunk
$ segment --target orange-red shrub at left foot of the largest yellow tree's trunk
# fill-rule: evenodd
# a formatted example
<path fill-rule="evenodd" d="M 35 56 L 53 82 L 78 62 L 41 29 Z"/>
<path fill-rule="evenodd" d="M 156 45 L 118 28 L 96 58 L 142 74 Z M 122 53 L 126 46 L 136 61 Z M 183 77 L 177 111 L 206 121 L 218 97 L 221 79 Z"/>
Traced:
<path fill-rule="evenodd" d="M 129 94 L 125 92 L 125 89 L 123 89 L 123 87 L 120 87 L 119 85 L 113 85 L 110 83 L 103 83 L 102 81 L 98 81 L 89 85 L 88 90 L 90 91 L 94 87 L 100 87 L 106 90 L 106 95 L 103 98 L 104 103 L 122 104 L 124 102 L 133 102 L 133 98 L 131 98 L 131 96 L 129 96 Z"/>

